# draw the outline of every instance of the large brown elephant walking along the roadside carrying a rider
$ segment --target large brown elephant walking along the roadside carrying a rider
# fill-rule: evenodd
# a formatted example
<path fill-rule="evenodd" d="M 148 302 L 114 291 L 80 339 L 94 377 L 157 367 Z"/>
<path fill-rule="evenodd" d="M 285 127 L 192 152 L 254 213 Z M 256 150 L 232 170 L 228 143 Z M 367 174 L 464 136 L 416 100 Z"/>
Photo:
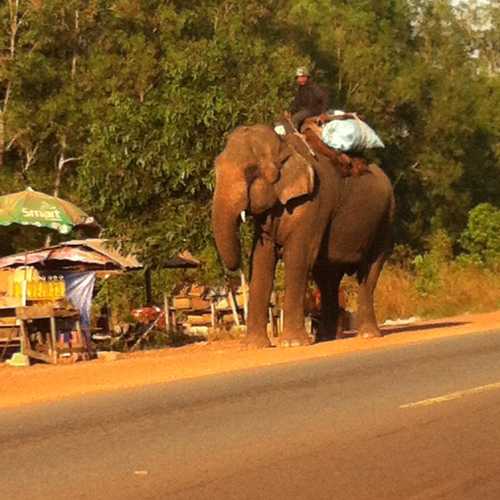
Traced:
<path fill-rule="evenodd" d="M 267 311 L 278 259 L 285 269 L 279 346 L 312 343 L 304 313 L 311 274 L 321 293 L 316 341 L 338 336 L 338 289 L 344 274 L 355 274 L 359 283 L 358 336 L 381 336 L 373 293 L 392 249 L 395 210 L 393 188 L 381 168 L 370 164 L 364 175 L 345 177 L 298 134 L 282 137 L 264 124 L 240 126 L 215 159 L 212 202 L 215 243 L 229 270 L 241 263 L 241 215 L 254 220 L 249 347 L 271 346 Z"/>

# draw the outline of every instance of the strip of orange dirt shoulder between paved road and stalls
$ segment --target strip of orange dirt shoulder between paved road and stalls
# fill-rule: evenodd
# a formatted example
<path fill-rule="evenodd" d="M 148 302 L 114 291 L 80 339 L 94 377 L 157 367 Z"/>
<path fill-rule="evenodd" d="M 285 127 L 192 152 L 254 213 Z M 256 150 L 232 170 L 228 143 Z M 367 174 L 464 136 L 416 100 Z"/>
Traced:
<path fill-rule="evenodd" d="M 386 326 L 385 336 L 380 339 L 348 337 L 291 349 L 245 350 L 237 341 L 221 341 L 124 354 L 115 361 L 93 360 L 58 366 L 36 364 L 29 368 L 0 364 L 0 409 L 494 330 L 500 330 L 500 310 Z"/>

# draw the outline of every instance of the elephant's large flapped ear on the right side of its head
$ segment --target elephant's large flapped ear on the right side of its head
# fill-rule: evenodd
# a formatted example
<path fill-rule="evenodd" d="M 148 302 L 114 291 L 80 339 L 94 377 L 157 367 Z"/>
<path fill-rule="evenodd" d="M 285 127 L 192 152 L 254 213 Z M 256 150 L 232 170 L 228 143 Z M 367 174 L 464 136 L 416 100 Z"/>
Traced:
<path fill-rule="evenodd" d="M 280 177 L 274 184 L 280 202 L 311 194 L 314 189 L 314 169 L 297 152 L 293 152 L 283 164 Z"/>

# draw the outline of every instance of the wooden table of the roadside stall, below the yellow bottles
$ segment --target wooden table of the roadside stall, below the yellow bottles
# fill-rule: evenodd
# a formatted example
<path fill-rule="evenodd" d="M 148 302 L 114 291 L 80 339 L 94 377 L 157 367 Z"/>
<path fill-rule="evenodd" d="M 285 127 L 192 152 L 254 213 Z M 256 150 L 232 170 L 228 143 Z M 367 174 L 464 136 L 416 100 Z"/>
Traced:
<path fill-rule="evenodd" d="M 81 337 L 80 312 L 73 308 L 58 308 L 52 305 L 31 305 L 16 307 L 16 317 L 21 329 L 21 352 L 30 358 L 45 361 L 47 363 L 57 363 L 60 349 L 57 343 L 57 320 L 70 319 L 74 321 L 75 329 Z M 50 332 L 47 334 L 47 354 L 32 348 L 28 331 L 28 322 L 33 320 L 48 319 Z M 88 345 L 85 346 L 88 350 Z"/>

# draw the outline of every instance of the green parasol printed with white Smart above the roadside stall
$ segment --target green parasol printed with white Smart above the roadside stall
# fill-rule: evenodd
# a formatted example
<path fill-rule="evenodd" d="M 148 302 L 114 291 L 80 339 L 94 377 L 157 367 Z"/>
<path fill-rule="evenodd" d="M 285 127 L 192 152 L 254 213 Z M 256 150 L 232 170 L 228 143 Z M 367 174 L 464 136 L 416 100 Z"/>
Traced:
<path fill-rule="evenodd" d="M 93 217 L 73 203 L 28 188 L 0 196 L 0 225 L 47 227 L 68 234 L 77 226 L 96 226 Z"/>

